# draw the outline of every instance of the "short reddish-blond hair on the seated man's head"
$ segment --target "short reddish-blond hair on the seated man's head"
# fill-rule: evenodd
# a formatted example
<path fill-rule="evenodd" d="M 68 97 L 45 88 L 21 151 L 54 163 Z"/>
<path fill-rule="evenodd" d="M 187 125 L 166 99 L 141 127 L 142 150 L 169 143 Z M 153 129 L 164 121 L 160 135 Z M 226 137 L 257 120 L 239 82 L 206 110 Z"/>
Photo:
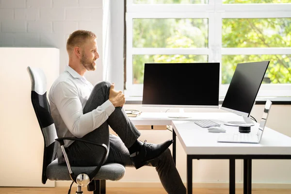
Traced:
<path fill-rule="evenodd" d="M 89 38 L 95 39 L 97 36 L 95 33 L 85 30 L 77 30 L 71 33 L 66 44 L 67 52 L 72 51 L 74 47 L 82 47 L 83 43 Z"/>

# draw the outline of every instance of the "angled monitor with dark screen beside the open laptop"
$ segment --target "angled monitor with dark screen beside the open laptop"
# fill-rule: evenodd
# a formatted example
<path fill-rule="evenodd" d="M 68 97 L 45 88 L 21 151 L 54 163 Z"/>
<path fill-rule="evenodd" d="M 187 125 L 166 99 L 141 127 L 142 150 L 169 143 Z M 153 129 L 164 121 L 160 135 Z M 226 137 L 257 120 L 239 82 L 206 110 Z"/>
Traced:
<path fill-rule="evenodd" d="M 231 126 L 253 125 L 249 118 L 269 61 L 238 64 L 230 81 L 221 109 L 239 114 L 244 122 L 231 121 Z"/>

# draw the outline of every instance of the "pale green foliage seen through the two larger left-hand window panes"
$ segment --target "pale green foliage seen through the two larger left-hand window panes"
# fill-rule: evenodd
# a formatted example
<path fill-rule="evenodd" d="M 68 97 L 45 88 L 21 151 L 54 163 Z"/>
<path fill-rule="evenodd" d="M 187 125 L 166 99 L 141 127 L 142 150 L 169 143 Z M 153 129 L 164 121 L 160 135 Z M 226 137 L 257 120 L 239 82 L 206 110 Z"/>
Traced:
<path fill-rule="evenodd" d="M 133 48 L 207 48 L 208 19 L 133 19 Z M 207 62 L 202 55 L 134 55 L 133 83 L 143 83 L 145 63 Z"/>

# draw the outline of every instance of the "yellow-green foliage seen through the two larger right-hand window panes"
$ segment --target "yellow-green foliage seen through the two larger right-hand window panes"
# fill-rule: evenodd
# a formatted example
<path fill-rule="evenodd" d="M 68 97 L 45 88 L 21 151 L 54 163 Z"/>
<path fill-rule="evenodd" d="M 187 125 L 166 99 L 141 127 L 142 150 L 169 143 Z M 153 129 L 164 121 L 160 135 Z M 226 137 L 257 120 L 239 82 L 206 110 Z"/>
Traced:
<path fill-rule="evenodd" d="M 291 47 L 291 18 L 223 19 L 222 47 Z M 227 55 L 222 58 L 222 83 L 231 81 L 238 63 L 270 61 L 264 82 L 291 83 L 291 55 Z"/>

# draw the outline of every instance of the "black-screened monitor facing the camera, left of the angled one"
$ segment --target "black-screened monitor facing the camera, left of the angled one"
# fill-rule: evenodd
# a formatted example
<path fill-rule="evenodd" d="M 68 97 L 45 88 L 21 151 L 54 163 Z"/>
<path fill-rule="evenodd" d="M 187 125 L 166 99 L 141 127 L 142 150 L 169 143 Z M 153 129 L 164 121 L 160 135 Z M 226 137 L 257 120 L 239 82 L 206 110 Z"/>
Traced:
<path fill-rule="evenodd" d="M 143 106 L 218 108 L 218 98 L 219 63 L 145 64 Z"/>

